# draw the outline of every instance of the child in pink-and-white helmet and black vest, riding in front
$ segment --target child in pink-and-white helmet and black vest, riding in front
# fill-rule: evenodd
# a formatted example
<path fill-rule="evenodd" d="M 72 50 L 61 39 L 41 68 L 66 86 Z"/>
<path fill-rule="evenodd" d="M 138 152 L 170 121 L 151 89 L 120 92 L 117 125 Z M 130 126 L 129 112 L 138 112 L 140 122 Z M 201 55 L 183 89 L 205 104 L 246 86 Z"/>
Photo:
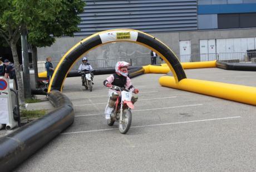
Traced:
<path fill-rule="evenodd" d="M 127 77 L 128 75 L 128 66 L 130 64 L 127 62 L 117 62 L 115 67 L 114 74 L 107 77 L 106 80 L 104 80 L 103 84 L 110 88 L 109 89 L 109 101 L 107 103 L 106 109 L 105 109 L 105 117 L 107 120 L 111 119 L 111 113 L 114 110 L 115 102 L 117 98 L 119 97 L 119 94 L 115 89 L 111 89 L 113 85 L 120 87 L 120 88 L 126 88 L 128 90 L 131 90 L 135 94 L 139 93 L 138 89 L 135 89 L 134 86 L 131 84 L 131 79 Z M 137 98 L 132 97 L 132 102 L 136 102 Z"/>

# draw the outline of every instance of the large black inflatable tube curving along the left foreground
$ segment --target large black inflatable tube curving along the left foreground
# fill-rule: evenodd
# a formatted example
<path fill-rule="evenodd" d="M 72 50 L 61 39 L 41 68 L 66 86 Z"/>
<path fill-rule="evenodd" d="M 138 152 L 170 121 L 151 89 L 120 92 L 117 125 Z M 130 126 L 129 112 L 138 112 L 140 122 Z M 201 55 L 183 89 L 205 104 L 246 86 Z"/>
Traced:
<path fill-rule="evenodd" d="M 16 168 L 73 123 L 73 105 L 66 95 L 52 90 L 48 98 L 55 110 L 0 138 L 1 172 Z"/>

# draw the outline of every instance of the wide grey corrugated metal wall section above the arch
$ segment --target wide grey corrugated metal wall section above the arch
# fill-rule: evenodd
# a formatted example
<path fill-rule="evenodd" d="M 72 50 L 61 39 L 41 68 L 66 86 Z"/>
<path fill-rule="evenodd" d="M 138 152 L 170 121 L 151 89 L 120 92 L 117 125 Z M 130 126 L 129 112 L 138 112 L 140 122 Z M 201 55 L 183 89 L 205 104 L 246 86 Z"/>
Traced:
<path fill-rule="evenodd" d="M 87 36 L 115 28 L 144 32 L 170 32 L 197 29 L 196 0 L 88 0 L 80 15 L 81 31 Z"/>

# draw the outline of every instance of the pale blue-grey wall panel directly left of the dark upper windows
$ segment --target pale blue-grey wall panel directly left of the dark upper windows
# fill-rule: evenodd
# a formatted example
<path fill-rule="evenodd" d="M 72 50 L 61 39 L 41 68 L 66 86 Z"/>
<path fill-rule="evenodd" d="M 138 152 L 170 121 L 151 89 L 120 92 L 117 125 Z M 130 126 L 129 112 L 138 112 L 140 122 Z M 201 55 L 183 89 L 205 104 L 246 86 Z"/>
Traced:
<path fill-rule="evenodd" d="M 198 29 L 216 29 L 218 28 L 217 14 L 199 14 Z"/>

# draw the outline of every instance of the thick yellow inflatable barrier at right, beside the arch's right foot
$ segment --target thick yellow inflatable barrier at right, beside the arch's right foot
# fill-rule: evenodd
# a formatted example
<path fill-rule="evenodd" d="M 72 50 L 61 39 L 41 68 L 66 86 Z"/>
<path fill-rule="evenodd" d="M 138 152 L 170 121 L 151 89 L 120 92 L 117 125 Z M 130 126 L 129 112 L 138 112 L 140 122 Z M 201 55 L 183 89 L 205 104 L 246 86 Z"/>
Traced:
<path fill-rule="evenodd" d="M 233 100 L 235 102 L 256 105 L 256 88 L 245 85 L 235 85 L 207 80 L 183 79 L 176 83 L 171 76 L 163 76 L 159 79 L 160 85 L 175 89 L 186 90 L 213 97 Z"/>

